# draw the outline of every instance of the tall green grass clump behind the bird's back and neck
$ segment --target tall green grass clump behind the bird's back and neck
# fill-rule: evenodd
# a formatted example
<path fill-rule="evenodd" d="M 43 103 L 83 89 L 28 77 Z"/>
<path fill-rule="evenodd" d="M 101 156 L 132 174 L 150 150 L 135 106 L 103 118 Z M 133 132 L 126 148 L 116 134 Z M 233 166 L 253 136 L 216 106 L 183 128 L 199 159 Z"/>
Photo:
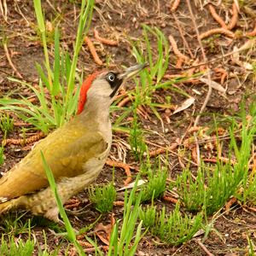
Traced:
<path fill-rule="evenodd" d="M 55 28 L 54 64 L 53 67 L 50 67 L 41 1 L 34 0 L 38 28 L 41 32 L 44 46 L 46 73 L 44 73 L 44 68 L 37 64 L 40 77 L 38 88 L 17 79 L 9 78 L 9 80 L 32 90 L 38 99 L 39 105 L 29 102 L 24 96 L 20 96 L 18 99 L 5 97 L 0 99 L 0 110 L 14 111 L 20 119 L 34 125 L 38 130 L 44 131 L 44 133 L 48 133 L 50 129 L 63 125 L 73 116 L 77 109 L 79 97 L 79 90 L 76 90 L 74 93 L 75 84 L 82 84 L 83 79 L 83 75 L 76 79 L 78 56 L 84 36 L 90 27 L 93 7 L 93 0 L 83 0 L 81 3 L 76 43 L 73 47 L 73 58 L 70 57 L 68 52 L 61 49 L 60 32 L 57 27 Z M 46 92 L 49 94 L 49 98 L 45 96 Z"/>

